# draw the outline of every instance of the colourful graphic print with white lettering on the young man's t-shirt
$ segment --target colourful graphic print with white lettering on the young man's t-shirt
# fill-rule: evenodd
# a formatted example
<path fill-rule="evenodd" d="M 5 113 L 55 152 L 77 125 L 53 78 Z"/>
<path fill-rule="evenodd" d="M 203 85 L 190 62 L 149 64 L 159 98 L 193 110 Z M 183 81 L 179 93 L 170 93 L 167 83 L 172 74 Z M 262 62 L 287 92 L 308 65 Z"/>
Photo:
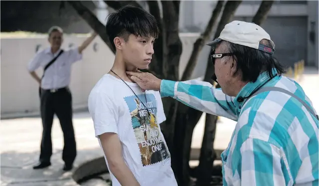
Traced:
<path fill-rule="evenodd" d="M 124 100 L 131 113 L 132 126 L 140 148 L 142 163 L 143 166 L 146 166 L 162 161 L 170 157 L 170 154 L 158 127 L 157 102 L 154 94 L 146 94 L 147 102 L 144 94 L 137 96 L 139 99 L 132 95 L 124 97 Z"/>

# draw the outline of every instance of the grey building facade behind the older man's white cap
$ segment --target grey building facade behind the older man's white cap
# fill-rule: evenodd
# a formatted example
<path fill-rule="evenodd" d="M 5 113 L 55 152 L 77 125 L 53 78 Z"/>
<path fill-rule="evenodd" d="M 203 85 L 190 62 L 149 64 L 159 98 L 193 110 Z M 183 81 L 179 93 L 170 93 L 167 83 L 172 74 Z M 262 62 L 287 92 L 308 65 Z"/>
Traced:
<path fill-rule="evenodd" d="M 202 32 L 216 3 L 182 1 L 180 30 Z M 260 3 L 261 0 L 244 0 L 233 20 L 251 21 Z M 304 59 L 308 66 L 319 66 L 318 0 L 276 0 L 261 26 L 271 35 L 276 45 L 275 56 L 285 65 L 292 66 Z"/>

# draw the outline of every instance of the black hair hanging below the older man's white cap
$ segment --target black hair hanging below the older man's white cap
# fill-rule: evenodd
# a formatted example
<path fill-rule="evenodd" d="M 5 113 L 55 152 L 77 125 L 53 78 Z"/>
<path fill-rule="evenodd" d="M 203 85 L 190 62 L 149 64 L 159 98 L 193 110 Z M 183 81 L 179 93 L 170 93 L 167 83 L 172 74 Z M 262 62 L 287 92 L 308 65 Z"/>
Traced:
<path fill-rule="evenodd" d="M 273 68 L 276 68 L 278 74 L 286 72 L 285 67 L 272 54 L 232 42 L 227 42 L 229 53 L 234 54 L 237 61 L 237 69 L 242 71 L 242 80 L 255 82 L 260 73 L 267 71 L 270 77 L 273 77 Z M 267 39 L 261 40 L 260 44 L 268 47 L 275 47 L 275 44 Z"/>

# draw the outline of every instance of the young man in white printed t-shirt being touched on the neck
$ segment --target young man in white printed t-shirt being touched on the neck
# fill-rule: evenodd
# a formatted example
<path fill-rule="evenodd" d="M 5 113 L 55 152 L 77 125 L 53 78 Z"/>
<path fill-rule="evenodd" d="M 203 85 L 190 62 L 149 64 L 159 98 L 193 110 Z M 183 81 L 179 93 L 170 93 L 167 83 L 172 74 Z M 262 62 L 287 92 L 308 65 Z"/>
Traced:
<path fill-rule="evenodd" d="M 91 90 L 88 108 L 114 186 L 177 185 L 159 125 L 166 119 L 160 93 L 143 92 L 125 73 L 147 68 L 158 31 L 154 16 L 132 6 L 106 23 L 114 64 Z"/>

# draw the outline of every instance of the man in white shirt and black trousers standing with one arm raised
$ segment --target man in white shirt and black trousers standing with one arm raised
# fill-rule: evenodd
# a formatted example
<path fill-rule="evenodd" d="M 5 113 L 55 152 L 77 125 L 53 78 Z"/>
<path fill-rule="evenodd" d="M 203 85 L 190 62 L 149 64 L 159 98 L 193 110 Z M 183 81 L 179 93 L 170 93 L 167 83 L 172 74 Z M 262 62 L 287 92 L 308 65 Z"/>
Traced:
<path fill-rule="evenodd" d="M 63 42 L 63 30 L 58 26 L 52 26 L 48 31 L 50 47 L 37 52 L 28 63 L 28 71 L 40 86 L 40 112 L 43 125 L 39 162 L 33 166 L 34 169 L 51 165 L 51 128 L 54 114 L 59 118 L 63 131 L 62 159 L 65 162 L 63 170 L 72 169 L 76 156 L 76 142 L 72 123 L 72 95 L 68 88 L 71 66 L 82 59 L 82 51 L 96 35 L 97 33 L 93 32 L 78 47 L 63 50 L 60 48 Z M 42 77 L 35 72 L 39 67 L 44 68 Z"/>

